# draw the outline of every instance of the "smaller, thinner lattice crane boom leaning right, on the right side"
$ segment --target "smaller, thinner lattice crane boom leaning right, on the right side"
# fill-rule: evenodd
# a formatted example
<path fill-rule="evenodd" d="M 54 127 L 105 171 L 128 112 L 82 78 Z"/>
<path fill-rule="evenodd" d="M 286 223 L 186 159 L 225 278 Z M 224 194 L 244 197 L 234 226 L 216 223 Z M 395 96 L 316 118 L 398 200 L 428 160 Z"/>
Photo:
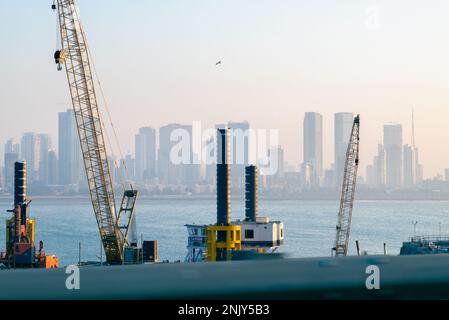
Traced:
<path fill-rule="evenodd" d="M 359 166 L 359 131 L 360 116 L 354 118 L 351 136 L 346 151 L 345 171 L 341 189 L 340 211 L 338 213 L 337 236 L 335 239 L 336 256 L 346 256 L 348 253 L 349 234 L 351 229 L 352 208 L 354 206 L 357 169 Z"/>

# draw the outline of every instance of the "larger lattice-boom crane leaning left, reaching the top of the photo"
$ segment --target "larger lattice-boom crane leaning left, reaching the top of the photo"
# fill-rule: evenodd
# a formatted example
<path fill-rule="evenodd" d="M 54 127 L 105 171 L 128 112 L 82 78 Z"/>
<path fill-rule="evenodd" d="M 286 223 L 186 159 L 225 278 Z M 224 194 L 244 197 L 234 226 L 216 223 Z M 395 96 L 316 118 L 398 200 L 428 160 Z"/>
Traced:
<path fill-rule="evenodd" d="M 109 264 L 124 263 L 125 248 L 134 220 L 138 191 L 125 190 L 117 214 L 109 169 L 103 121 L 100 115 L 91 57 L 74 0 L 57 0 L 61 48 L 54 58 L 58 70 L 65 65 L 72 98 L 90 198 Z"/>

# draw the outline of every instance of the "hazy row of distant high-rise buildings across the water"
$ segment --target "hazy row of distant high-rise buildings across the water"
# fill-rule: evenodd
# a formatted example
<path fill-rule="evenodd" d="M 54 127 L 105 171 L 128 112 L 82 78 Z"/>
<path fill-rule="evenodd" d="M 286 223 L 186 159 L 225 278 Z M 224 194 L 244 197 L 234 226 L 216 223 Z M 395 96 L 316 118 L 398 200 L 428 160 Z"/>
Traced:
<path fill-rule="evenodd" d="M 17 155 L 18 160 L 27 160 L 30 168 L 34 168 L 37 175 L 36 178 L 39 179 L 42 179 L 42 176 L 48 175 L 46 172 L 48 168 L 41 168 L 41 162 L 48 162 L 48 156 L 56 156 L 58 160 L 58 168 L 56 169 L 59 171 L 58 182 L 62 185 L 76 184 L 83 179 L 83 176 L 81 170 L 81 150 L 79 147 L 73 111 L 68 109 L 67 111 L 60 112 L 58 116 L 57 139 L 53 140 L 52 136 L 49 134 L 24 132 L 20 139 L 18 139 L 19 142 L 15 138 L 9 138 L 5 141 L 4 153 L 13 153 Z M 329 180 L 330 178 L 330 180 L 333 180 L 333 183 L 328 184 L 327 186 L 339 186 L 341 181 L 338 180 L 340 180 L 341 177 L 338 177 L 338 175 L 341 175 L 342 172 L 340 171 L 343 171 L 344 169 L 344 158 L 347 148 L 346 140 L 351 132 L 352 122 L 354 119 L 353 116 L 354 114 L 347 112 L 337 112 L 334 114 L 334 126 L 336 130 L 333 143 L 334 150 L 336 150 L 336 152 L 334 154 L 334 161 L 328 167 L 322 167 L 322 164 L 320 164 L 322 161 L 323 145 L 323 123 L 322 115 L 320 113 L 306 112 L 304 114 L 304 135 L 301 145 L 305 150 L 304 154 L 306 156 L 300 163 L 285 161 L 284 147 L 276 141 L 270 141 L 272 137 L 263 138 L 258 136 L 254 132 L 254 128 L 252 128 L 251 124 L 247 121 L 216 124 L 215 129 L 224 127 L 231 128 L 231 132 L 233 134 L 231 144 L 231 163 L 233 163 L 232 167 L 234 178 L 240 179 L 243 174 L 243 172 L 240 172 L 241 168 L 239 167 L 244 167 L 250 163 L 265 166 L 263 163 L 268 160 L 269 163 L 271 161 L 276 162 L 274 165 L 276 168 L 272 168 L 274 169 L 274 172 L 268 173 L 268 175 L 277 174 L 277 168 L 279 166 L 284 167 L 287 165 L 289 172 L 308 172 L 306 174 L 311 175 L 309 179 L 315 180 L 312 182 L 312 185 L 324 186 L 326 185 L 325 180 Z M 215 160 L 209 159 L 210 156 L 214 157 L 214 152 L 211 152 L 211 150 L 215 149 L 214 138 L 209 138 L 209 135 L 204 136 L 206 132 L 209 133 L 208 128 L 197 126 L 198 123 L 194 123 L 193 125 L 169 123 L 160 128 L 138 128 L 135 134 L 134 150 L 123 154 L 112 153 L 109 151 L 111 166 L 113 165 L 119 169 L 121 160 L 132 160 L 132 166 L 134 167 L 133 179 L 135 179 L 136 182 L 141 183 L 149 181 L 154 177 L 158 177 L 159 179 L 162 179 L 162 181 L 166 180 L 165 182 L 167 182 L 168 180 L 166 178 L 168 178 L 168 176 L 166 176 L 164 172 L 168 173 L 174 170 L 172 173 L 174 175 L 171 179 L 175 179 L 172 180 L 172 182 L 175 182 L 176 179 L 180 178 L 180 176 L 186 174 L 181 171 L 175 173 L 179 169 L 176 169 L 176 163 L 172 162 L 176 162 L 178 160 L 172 159 L 171 153 L 175 150 L 173 148 L 176 146 L 176 150 L 181 148 L 175 153 L 178 154 L 178 152 L 181 151 L 179 156 L 182 155 L 183 163 L 187 160 L 187 163 L 189 164 L 202 166 L 212 165 L 214 167 Z M 181 136 L 179 136 L 179 132 L 177 132 L 178 130 L 182 130 L 182 132 L 184 132 L 187 136 L 181 138 Z M 202 131 L 195 133 L 195 130 Z M 361 169 L 361 172 L 359 172 L 360 176 L 368 180 L 377 179 L 379 181 L 379 183 L 372 183 L 373 185 L 380 184 L 393 188 L 413 186 L 418 180 L 421 181 L 422 171 L 420 172 L 420 170 L 422 170 L 422 163 L 419 161 L 418 157 L 419 148 L 414 145 L 413 138 L 412 145 L 403 143 L 402 130 L 403 126 L 401 124 L 391 122 L 384 124 L 383 144 L 378 145 L 376 157 L 373 158 L 371 163 L 368 163 L 366 168 Z M 263 131 L 262 133 L 265 134 Z M 205 137 L 208 138 L 205 139 Z M 189 140 L 187 145 L 184 144 L 185 138 Z M 201 149 L 197 151 L 192 149 L 196 138 L 202 139 L 202 141 L 197 141 L 197 143 L 200 143 L 199 148 Z M 175 140 L 171 141 L 171 139 Z M 259 143 L 261 142 L 259 141 L 260 139 L 262 139 L 261 141 L 267 139 L 266 142 L 270 145 L 266 145 L 266 147 L 263 147 L 260 151 L 256 151 L 256 149 L 261 147 L 259 146 Z M 55 146 L 53 146 L 53 143 Z M 56 145 L 58 145 L 59 148 L 56 148 Z M 273 159 L 270 157 L 270 153 L 279 147 L 282 149 L 280 151 L 282 153 L 282 163 L 279 163 L 278 159 Z M 392 147 L 393 151 L 391 151 Z M 202 157 L 195 153 L 202 153 L 205 151 L 207 155 L 203 154 Z M 187 154 L 183 155 L 184 152 L 187 152 Z M 252 152 L 256 152 L 257 154 L 252 154 L 251 156 L 250 153 Z M 268 158 L 265 160 L 261 158 L 263 154 L 265 154 Z M 187 156 L 187 158 L 185 158 L 185 156 Z M 6 158 L 2 159 L 2 161 L 5 163 Z M 212 161 L 212 163 L 210 161 Z M 365 170 L 373 170 L 374 167 L 379 166 L 378 163 L 376 164 L 376 161 L 381 161 L 381 167 L 376 168 L 375 170 L 380 170 L 383 173 L 378 172 L 375 175 L 380 174 L 383 178 L 374 178 L 373 176 L 370 177 L 370 174 L 372 175 L 374 172 L 365 172 Z M 338 164 L 338 162 L 343 163 Z M 273 164 L 270 166 L 272 165 Z M 164 169 L 164 167 L 167 168 Z M 169 167 L 173 168 L 169 169 Z M 198 168 L 195 170 L 198 170 Z M 446 170 L 446 168 L 444 170 Z M 284 168 L 282 168 L 281 171 L 283 172 Z M 326 171 L 330 171 L 332 177 L 326 177 Z M 33 173 L 34 172 L 30 175 L 31 180 L 35 180 Z M 438 172 L 436 176 L 441 175 L 442 173 L 444 173 L 444 171 Z M 411 176 L 407 177 L 407 174 Z M 418 176 L 420 179 L 418 179 Z M 435 176 L 432 176 L 431 178 L 434 177 Z M 180 181 L 187 181 L 186 179 L 189 180 L 187 176 L 184 176 Z M 394 179 L 395 181 L 391 183 L 389 179 Z M 44 180 L 41 182 L 43 181 Z M 239 184 L 237 180 L 235 180 L 234 183 Z"/>

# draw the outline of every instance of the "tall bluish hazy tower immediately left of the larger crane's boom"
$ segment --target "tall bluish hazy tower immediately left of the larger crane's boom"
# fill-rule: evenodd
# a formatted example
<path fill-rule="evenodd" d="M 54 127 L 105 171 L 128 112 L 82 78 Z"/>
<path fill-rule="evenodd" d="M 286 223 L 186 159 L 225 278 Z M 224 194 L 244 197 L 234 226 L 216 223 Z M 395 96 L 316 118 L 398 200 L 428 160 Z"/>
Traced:
<path fill-rule="evenodd" d="M 82 154 L 73 110 L 59 113 L 59 183 L 78 184 L 82 179 Z"/>

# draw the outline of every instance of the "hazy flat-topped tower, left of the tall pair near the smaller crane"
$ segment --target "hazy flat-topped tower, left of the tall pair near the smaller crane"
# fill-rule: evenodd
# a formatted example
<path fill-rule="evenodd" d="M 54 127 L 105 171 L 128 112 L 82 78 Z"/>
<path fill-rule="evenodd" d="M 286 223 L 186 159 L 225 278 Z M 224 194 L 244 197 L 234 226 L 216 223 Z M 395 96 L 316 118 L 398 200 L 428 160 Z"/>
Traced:
<path fill-rule="evenodd" d="M 323 116 L 306 112 L 304 116 L 304 166 L 312 186 L 319 186 L 323 175 Z M 306 179 L 307 180 L 307 179 Z"/>

